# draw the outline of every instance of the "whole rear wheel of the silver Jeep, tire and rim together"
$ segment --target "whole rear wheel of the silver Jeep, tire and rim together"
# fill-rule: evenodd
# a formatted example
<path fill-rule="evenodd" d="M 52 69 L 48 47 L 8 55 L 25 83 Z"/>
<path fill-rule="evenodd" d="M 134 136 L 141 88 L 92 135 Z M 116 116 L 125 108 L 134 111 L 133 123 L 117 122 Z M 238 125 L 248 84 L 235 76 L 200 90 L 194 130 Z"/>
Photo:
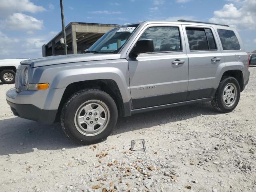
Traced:
<path fill-rule="evenodd" d="M 240 86 L 236 78 L 222 78 L 214 95 L 212 106 L 220 112 L 231 112 L 240 99 Z"/>

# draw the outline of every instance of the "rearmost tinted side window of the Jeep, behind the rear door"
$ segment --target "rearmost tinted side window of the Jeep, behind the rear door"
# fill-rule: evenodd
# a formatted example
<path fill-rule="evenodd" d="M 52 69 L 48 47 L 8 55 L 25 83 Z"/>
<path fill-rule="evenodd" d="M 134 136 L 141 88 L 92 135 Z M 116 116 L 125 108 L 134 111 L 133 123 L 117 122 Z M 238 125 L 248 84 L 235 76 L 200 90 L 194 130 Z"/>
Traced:
<path fill-rule="evenodd" d="M 217 29 L 223 50 L 240 50 L 238 39 L 231 30 Z"/>

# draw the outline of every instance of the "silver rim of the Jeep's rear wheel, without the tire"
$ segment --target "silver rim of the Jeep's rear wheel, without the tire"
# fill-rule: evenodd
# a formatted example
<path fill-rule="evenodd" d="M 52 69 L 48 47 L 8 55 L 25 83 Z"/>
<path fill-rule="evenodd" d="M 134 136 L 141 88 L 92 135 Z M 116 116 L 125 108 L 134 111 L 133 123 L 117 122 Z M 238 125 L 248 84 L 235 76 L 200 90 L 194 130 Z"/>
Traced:
<path fill-rule="evenodd" d="M 228 83 L 222 93 L 222 100 L 225 106 L 231 107 L 236 102 L 237 88 L 235 84 Z"/>

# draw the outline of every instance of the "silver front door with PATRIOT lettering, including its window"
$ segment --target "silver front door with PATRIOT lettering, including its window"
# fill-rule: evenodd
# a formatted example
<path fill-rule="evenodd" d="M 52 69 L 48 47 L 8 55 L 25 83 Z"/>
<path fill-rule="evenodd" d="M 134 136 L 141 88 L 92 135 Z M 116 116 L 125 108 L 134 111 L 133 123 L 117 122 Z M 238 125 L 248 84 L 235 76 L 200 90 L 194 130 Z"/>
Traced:
<path fill-rule="evenodd" d="M 188 56 L 181 25 L 150 24 L 136 41 L 144 39 L 153 40 L 154 52 L 127 58 L 132 108 L 185 101 Z"/>

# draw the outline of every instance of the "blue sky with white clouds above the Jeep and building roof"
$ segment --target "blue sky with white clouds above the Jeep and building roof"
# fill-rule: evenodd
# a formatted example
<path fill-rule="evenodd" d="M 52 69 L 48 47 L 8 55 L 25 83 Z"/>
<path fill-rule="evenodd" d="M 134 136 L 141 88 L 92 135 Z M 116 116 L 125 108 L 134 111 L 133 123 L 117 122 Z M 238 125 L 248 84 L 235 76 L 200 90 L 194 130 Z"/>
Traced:
<path fill-rule="evenodd" d="M 65 24 L 197 20 L 228 24 L 256 50 L 256 0 L 63 0 Z M 1 0 L 0 59 L 42 57 L 62 30 L 59 0 Z"/>

